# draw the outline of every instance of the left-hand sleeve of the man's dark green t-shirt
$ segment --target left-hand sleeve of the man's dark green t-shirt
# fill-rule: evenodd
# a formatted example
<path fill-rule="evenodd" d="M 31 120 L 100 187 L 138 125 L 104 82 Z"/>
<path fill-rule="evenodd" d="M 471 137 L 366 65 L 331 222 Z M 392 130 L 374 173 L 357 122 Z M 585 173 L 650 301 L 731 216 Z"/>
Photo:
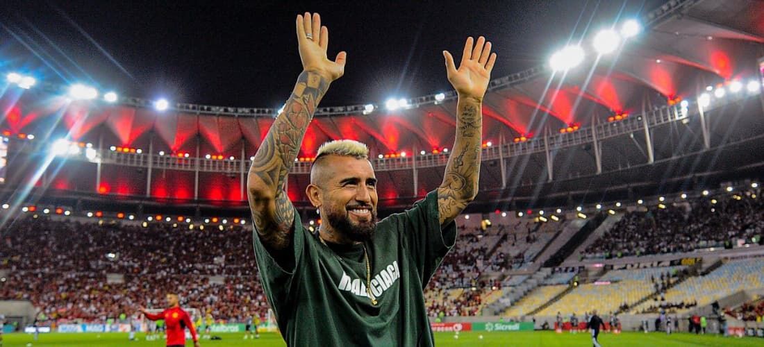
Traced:
<path fill-rule="evenodd" d="M 283 305 L 289 302 L 294 274 L 300 266 L 307 242 L 306 231 L 303 229 L 303 223 L 297 210 L 294 211 L 293 223 L 294 231 L 290 246 L 285 249 L 267 249 L 260 239 L 260 234 L 257 233 L 257 227 L 252 232 L 257 270 L 260 272 L 268 302 L 270 302 L 277 316 L 280 316 L 284 309 Z"/>

